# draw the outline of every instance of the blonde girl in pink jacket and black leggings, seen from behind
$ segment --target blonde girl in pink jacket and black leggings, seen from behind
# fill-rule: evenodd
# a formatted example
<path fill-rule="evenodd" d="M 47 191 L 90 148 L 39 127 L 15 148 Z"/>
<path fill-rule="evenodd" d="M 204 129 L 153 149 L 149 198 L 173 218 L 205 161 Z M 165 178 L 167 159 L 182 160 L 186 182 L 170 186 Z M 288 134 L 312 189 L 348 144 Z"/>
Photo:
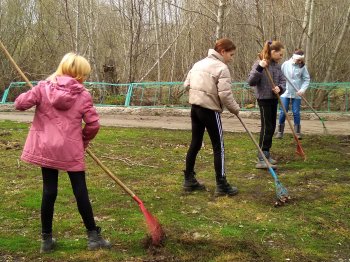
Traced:
<path fill-rule="evenodd" d="M 68 172 L 87 229 L 88 249 L 110 247 L 101 237 L 101 228 L 95 224 L 85 181 L 84 148 L 100 127 L 91 95 L 82 84 L 90 71 L 90 64 L 84 57 L 68 53 L 54 74 L 15 101 L 16 109 L 21 111 L 36 106 L 21 159 L 41 167 L 41 253 L 52 251 L 56 243 L 52 238 L 52 219 L 58 170 Z"/>

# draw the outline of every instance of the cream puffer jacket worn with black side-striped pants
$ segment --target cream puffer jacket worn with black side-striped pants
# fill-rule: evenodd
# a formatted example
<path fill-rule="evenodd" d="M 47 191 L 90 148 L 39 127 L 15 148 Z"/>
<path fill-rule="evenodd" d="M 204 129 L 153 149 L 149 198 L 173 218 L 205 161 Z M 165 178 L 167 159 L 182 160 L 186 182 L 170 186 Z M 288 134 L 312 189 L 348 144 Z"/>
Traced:
<path fill-rule="evenodd" d="M 239 114 L 240 107 L 231 90 L 230 71 L 224 58 L 215 50 L 209 49 L 208 57 L 193 65 L 184 86 L 190 87 L 190 104 L 220 113 L 226 107 L 231 113 Z"/>

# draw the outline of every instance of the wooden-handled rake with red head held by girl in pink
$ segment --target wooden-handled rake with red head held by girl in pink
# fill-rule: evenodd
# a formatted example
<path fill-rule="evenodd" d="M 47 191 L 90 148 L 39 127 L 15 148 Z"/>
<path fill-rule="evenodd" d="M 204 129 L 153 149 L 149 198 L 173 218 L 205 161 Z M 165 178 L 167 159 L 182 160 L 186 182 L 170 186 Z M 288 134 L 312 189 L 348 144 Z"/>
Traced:
<path fill-rule="evenodd" d="M 13 60 L 13 58 L 11 57 L 10 53 L 7 51 L 7 49 L 5 48 L 1 40 L 0 40 L 0 47 L 4 51 L 5 55 L 10 60 L 12 65 L 15 67 L 15 69 L 18 71 L 18 73 L 25 80 L 27 85 L 30 88 L 32 88 L 33 85 L 30 83 L 28 78 L 23 74 L 22 70 L 18 67 L 16 62 Z M 113 175 L 113 173 L 95 156 L 94 153 L 92 153 L 92 151 L 89 148 L 86 149 L 86 152 L 115 182 L 117 182 L 117 184 L 120 187 L 122 187 L 137 202 L 146 219 L 147 229 L 152 239 L 151 244 L 153 246 L 160 246 L 163 243 L 163 240 L 165 239 L 165 233 L 161 225 L 159 224 L 158 220 L 154 216 L 152 216 L 150 212 L 148 212 L 148 210 L 145 208 L 142 201 L 128 187 L 126 187 L 126 185 L 124 185 L 115 175 Z"/>

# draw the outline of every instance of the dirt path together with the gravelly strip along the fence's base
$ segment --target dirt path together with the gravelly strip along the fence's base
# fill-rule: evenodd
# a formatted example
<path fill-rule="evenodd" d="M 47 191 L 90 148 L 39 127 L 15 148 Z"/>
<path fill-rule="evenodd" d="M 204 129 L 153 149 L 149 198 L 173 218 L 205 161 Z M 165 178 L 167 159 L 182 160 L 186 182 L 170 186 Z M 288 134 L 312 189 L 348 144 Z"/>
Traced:
<path fill-rule="evenodd" d="M 97 111 L 101 117 L 100 122 L 104 126 L 191 129 L 189 109 L 98 107 Z M 31 122 L 33 112 L 32 109 L 18 112 L 14 110 L 13 105 L 0 105 L 0 120 Z M 328 134 L 350 135 L 350 113 L 319 113 L 319 115 L 326 120 Z M 259 112 L 242 111 L 240 116 L 251 132 L 260 131 Z M 322 123 L 314 113 L 303 112 L 301 117 L 303 133 L 324 134 Z M 293 119 L 292 116 L 291 119 Z M 228 112 L 222 114 L 222 122 L 225 131 L 245 131 L 239 120 Z M 287 127 L 286 133 L 290 133 Z"/>

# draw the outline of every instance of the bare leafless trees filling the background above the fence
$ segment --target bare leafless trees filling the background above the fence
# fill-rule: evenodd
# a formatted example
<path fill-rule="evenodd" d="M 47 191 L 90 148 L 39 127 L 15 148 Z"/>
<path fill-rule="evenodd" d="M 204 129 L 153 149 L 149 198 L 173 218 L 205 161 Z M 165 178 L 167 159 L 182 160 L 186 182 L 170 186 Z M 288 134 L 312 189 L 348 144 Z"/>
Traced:
<path fill-rule="evenodd" d="M 33 80 L 77 51 L 92 81 L 182 81 L 223 36 L 238 47 L 235 81 L 268 39 L 285 44 L 286 58 L 306 50 L 314 81 L 348 81 L 349 16 L 347 0 L 0 0 L 0 37 Z M 0 58 L 3 90 L 20 79 Z"/>

